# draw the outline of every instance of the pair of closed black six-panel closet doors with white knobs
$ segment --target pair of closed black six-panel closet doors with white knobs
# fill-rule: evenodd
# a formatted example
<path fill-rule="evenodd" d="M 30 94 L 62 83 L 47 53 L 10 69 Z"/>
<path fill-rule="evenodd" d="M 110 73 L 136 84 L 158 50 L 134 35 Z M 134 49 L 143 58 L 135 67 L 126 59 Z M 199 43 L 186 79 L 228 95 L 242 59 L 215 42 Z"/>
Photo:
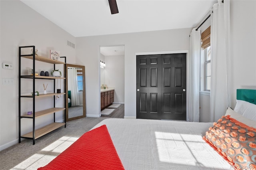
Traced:
<path fill-rule="evenodd" d="M 186 120 L 186 53 L 137 55 L 137 118 Z"/>

